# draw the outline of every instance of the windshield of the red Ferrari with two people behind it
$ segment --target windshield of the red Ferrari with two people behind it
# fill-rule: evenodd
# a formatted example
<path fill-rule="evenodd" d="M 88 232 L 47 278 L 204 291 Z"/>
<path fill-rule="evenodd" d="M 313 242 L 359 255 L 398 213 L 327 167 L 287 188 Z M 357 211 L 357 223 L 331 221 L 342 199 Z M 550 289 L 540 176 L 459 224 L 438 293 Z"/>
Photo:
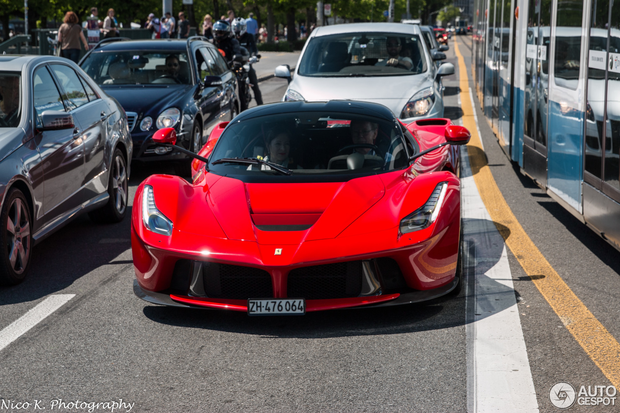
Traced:
<path fill-rule="evenodd" d="M 282 113 L 229 125 L 208 168 L 255 176 L 376 174 L 408 166 L 413 151 L 396 122 L 348 113 Z"/>

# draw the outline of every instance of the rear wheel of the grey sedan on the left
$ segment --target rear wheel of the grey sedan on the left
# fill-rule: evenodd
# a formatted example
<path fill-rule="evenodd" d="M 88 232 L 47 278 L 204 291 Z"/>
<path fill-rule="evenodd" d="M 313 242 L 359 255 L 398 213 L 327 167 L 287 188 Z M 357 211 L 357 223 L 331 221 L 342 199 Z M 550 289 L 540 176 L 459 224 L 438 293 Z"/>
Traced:
<path fill-rule="evenodd" d="M 122 221 L 127 213 L 127 187 L 127 162 L 122 151 L 116 148 L 112 155 L 108 178 L 108 194 L 110 198 L 108 198 L 108 202 L 104 207 L 89 212 L 88 215 L 91 217 L 91 220 L 96 223 L 107 224 Z"/>

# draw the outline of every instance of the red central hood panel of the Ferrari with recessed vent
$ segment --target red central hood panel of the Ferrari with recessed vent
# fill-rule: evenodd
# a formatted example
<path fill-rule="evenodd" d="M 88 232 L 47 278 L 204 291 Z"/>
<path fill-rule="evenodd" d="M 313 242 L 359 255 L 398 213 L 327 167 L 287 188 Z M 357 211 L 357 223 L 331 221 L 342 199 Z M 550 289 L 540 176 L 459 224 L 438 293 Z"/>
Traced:
<path fill-rule="evenodd" d="M 245 184 L 222 177 L 206 200 L 227 238 L 281 246 L 337 237 L 384 193 L 377 175 L 309 184 Z M 273 225 L 294 230 L 274 231 Z"/>

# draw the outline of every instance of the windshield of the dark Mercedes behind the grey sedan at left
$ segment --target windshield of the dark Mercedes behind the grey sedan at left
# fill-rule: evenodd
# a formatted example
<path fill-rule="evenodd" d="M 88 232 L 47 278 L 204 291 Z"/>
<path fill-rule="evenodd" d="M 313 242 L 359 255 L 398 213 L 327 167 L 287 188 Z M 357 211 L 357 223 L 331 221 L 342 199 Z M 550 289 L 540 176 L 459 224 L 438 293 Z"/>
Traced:
<path fill-rule="evenodd" d="M 113 84 L 190 84 L 185 51 L 98 51 L 82 69 L 102 86 Z"/>

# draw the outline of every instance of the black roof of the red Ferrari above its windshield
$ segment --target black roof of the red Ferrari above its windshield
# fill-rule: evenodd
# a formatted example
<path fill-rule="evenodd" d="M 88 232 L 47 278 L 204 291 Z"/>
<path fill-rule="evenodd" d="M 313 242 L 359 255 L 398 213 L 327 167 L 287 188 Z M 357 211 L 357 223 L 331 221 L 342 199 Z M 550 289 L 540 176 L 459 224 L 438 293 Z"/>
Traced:
<path fill-rule="evenodd" d="M 368 115 L 384 120 L 394 120 L 394 113 L 384 105 L 371 102 L 359 102 L 357 100 L 329 100 L 327 102 L 293 100 L 291 102 L 277 102 L 244 110 L 244 112 L 237 115 L 234 120 L 241 121 L 260 116 L 293 112 L 344 112 L 356 115 Z"/>

